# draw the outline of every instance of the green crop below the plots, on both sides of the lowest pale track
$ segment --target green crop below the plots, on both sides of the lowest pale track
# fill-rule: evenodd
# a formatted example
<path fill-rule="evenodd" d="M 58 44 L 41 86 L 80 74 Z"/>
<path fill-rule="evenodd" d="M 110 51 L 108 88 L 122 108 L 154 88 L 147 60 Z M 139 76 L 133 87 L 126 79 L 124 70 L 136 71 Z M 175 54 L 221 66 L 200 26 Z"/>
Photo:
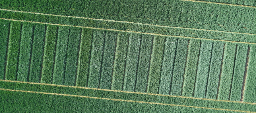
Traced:
<path fill-rule="evenodd" d="M 223 101 L 210 101 L 202 99 L 189 99 L 180 97 L 133 94 L 124 92 L 112 92 L 102 90 L 89 90 L 81 88 L 58 87 L 40 84 L 0 82 L 0 88 L 25 90 L 34 92 L 82 95 L 89 97 L 123 99 L 132 101 L 145 101 L 174 105 L 187 105 L 195 107 L 222 108 L 231 110 L 256 111 L 256 105 L 246 103 L 234 103 Z M 27 112 L 213 112 L 230 113 L 223 110 L 209 110 L 202 108 L 177 107 L 169 105 L 155 105 L 146 103 L 133 103 L 110 101 L 102 99 L 88 99 L 82 97 L 70 97 L 49 94 L 34 94 L 25 92 L 0 91 L 0 110 L 6 112 L 27 111 Z M 20 102 L 24 104 L 20 104 Z M 35 104 L 36 103 L 36 104 Z M 15 106 L 15 109 L 13 108 Z M 40 106 L 40 107 L 38 107 Z M 51 107 L 49 107 L 51 106 Z"/>

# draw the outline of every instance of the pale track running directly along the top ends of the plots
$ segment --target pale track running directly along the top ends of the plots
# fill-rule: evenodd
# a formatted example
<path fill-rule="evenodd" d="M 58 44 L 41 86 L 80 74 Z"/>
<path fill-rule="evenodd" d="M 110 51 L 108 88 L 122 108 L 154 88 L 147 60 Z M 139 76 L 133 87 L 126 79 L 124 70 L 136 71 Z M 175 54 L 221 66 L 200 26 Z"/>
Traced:
<path fill-rule="evenodd" d="M 55 24 L 55 23 L 44 23 L 44 22 L 36 22 L 36 21 L 26 21 L 26 20 L 7 19 L 7 18 L 0 18 L 0 19 L 9 20 L 9 21 L 28 22 L 28 23 L 40 23 L 40 24 L 46 24 L 46 25 L 58 25 L 58 26 L 68 26 L 68 27 L 80 27 L 80 28 L 98 29 L 98 30 L 108 30 L 108 31 L 118 31 L 118 32 L 130 32 L 130 33 L 148 34 L 148 35 L 154 35 L 154 36 L 170 36 L 170 37 L 177 37 L 177 38 L 197 39 L 197 40 L 199 39 L 199 40 L 212 40 L 212 41 L 222 41 L 222 42 L 231 42 L 231 43 L 256 44 L 256 43 L 250 43 L 250 42 L 236 42 L 236 41 L 229 41 L 229 40 L 215 40 L 215 39 L 195 38 L 195 37 L 187 37 L 187 36 L 163 35 L 163 34 L 156 34 L 156 33 L 146 33 L 146 32 L 137 32 L 137 31 L 123 31 L 123 30 L 116 30 L 116 29 L 104 29 L 104 28 L 84 27 L 84 26 L 76 26 L 76 25 L 64 25 L 64 24 Z"/>

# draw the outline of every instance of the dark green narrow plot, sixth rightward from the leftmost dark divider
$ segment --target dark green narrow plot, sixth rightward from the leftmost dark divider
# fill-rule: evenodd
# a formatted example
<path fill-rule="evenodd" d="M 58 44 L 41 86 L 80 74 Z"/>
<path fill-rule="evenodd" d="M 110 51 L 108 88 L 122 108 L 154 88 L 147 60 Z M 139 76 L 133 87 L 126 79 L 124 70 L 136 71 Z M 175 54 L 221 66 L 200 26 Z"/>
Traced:
<path fill-rule="evenodd" d="M 77 73 L 77 56 L 81 29 L 76 27 L 69 27 L 69 29 L 64 85 L 74 86 Z"/>

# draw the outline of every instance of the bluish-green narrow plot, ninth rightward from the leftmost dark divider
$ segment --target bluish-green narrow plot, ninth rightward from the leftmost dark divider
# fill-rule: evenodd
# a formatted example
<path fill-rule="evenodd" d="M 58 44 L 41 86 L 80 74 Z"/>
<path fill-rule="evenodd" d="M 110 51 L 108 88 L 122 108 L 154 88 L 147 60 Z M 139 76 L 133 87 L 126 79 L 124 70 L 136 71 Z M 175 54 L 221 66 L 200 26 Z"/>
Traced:
<path fill-rule="evenodd" d="M 111 87 L 116 39 L 117 32 L 106 32 L 100 78 L 100 88 L 102 89 L 110 89 Z"/>

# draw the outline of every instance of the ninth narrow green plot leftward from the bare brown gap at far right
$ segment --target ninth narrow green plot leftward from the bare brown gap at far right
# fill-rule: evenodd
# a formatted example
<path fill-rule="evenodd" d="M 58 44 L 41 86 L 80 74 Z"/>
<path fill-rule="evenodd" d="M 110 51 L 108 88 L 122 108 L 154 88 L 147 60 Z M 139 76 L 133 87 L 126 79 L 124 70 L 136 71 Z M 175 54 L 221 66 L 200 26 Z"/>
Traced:
<path fill-rule="evenodd" d="M 149 60 L 151 53 L 153 36 L 141 35 L 141 50 L 139 55 L 139 64 L 137 70 L 137 81 L 135 86 L 135 92 L 145 92 L 147 85 Z"/>

